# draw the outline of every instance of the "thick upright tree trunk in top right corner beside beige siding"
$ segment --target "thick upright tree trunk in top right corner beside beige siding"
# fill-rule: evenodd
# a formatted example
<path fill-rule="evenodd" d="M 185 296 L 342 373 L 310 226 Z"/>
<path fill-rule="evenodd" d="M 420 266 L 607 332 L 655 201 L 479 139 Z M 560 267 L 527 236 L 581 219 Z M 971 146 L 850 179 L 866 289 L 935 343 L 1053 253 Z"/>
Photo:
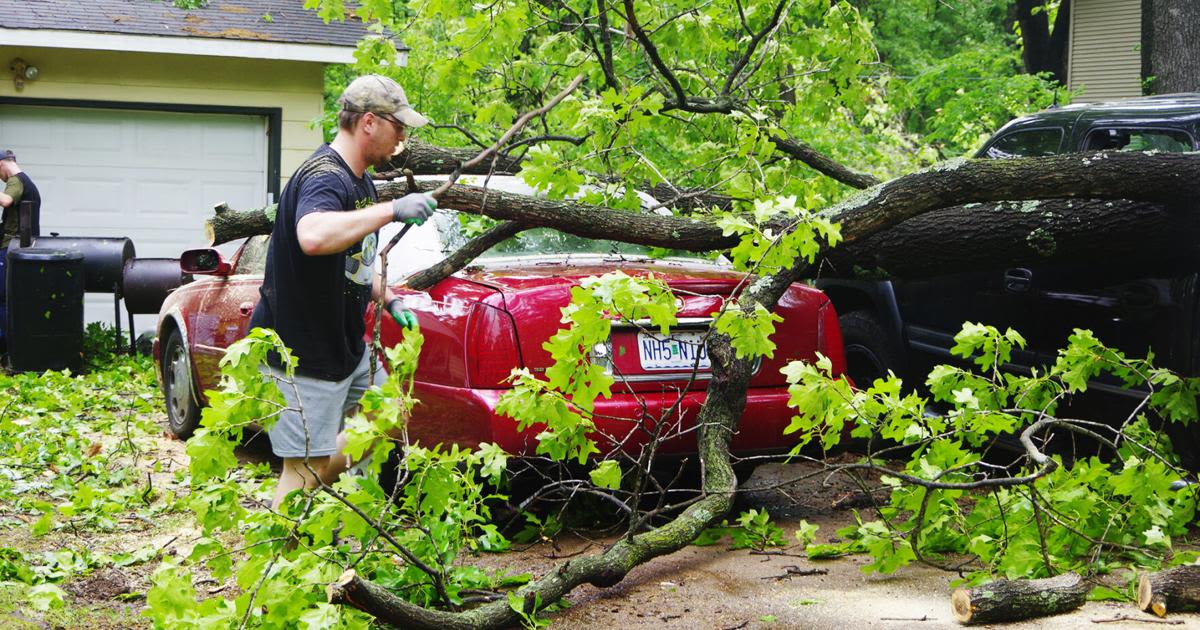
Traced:
<path fill-rule="evenodd" d="M 1144 0 L 1142 73 L 1153 94 L 1200 91 L 1200 2 Z"/>

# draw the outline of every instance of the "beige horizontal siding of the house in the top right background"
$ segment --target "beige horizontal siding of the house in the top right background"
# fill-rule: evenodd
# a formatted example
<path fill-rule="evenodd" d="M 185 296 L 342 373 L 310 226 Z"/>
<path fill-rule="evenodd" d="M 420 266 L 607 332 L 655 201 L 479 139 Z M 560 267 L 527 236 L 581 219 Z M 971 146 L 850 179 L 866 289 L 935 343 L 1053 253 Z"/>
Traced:
<path fill-rule="evenodd" d="M 1078 102 L 1141 96 L 1141 0 L 1074 0 L 1067 83 Z"/>

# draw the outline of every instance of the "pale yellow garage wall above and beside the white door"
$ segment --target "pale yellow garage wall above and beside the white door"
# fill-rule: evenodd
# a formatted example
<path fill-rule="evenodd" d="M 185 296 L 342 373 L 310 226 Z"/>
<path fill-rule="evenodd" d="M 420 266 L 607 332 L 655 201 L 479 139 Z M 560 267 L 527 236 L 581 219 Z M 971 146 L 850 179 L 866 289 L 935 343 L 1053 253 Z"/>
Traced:
<path fill-rule="evenodd" d="M 324 107 L 324 65 L 304 61 L 0 46 L 41 71 L 17 91 L 0 80 L 0 97 L 112 101 L 280 109 L 280 187 L 320 144 L 312 120 Z"/>

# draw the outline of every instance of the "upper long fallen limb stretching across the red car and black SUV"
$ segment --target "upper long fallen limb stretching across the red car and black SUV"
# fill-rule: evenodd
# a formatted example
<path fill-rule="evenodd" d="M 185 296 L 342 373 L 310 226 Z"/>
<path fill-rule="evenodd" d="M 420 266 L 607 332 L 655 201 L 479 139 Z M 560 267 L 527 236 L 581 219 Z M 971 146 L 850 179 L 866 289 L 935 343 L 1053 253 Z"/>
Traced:
<path fill-rule="evenodd" d="M 421 190 L 432 190 L 433 182 L 419 182 Z M 408 192 L 402 182 L 379 186 L 380 198 L 388 199 Z M 899 178 L 828 209 L 824 215 L 842 224 L 845 245 L 854 246 L 877 233 L 890 229 L 916 216 L 955 205 L 971 203 L 995 203 L 1021 199 L 1102 199 L 1115 205 L 1120 199 L 1188 204 L 1200 197 L 1200 156 L 1189 154 L 1076 154 L 1024 160 L 974 160 L 958 164 L 943 164 Z M 1103 203 L 1103 202 L 1102 202 Z M 466 212 L 480 212 L 492 218 L 517 221 L 529 227 L 550 227 L 593 239 L 608 239 L 659 247 L 690 251 L 725 250 L 737 244 L 736 236 L 725 236 L 712 223 L 688 217 L 638 215 L 571 200 L 538 199 L 521 194 L 504 193 L 475 186 L 454 186 L 442 197 L 444 208 Z M 1088 216 L 1098 211 L 1094 203 L 1021 204 L 1006 206 L 1009 212 L 1025 212 L 1036 218 L 1050 211 L 1056 221 L 1070 221 L 1072 216 Z M 1102 206 L 1108 209 L 1108 206 Z M 972 209 L 960 209 L 966 212 Z M 988 208 L 973 209 L 984 216 Z M 222 222 L 238 226 L 239 232 L 214 230 L 215 242 L 265 234 L 271 223 L 263 210 L 245 212 L 227 211 L 227 215 L 245 215 L 239 221 Z M 1020 215 L 1024 216 L 1024 215 Z M 212 221 L 216 221 L 215 217 Z M 953 215 L 952 215 L 953 218 Z M 958 221 L 941 221 L 926 226 L 929 233 L 947 229 L 958 230 Z M 980 218 L 980 221 L 985 221 Z M 781 220 L 775 226 L 782 227 Z M 1069 224 L 1069 223 L 1066 223 Z M 214 224 L 216 228 L 216 224 Z M 1015 229 L 1030 228 L 1033 223 L 1019 223 Z M 923 228 L 924 229 L 924 228 Z M 1070 230 L 1052 232 L 1056 238 L 1070 236 Z M 944 238 L 944 234 L 942 234 Z M 932 245 L 931 245 L 932 246 Z M 1069 251 L 1069 250 L 1064 250 Z M 822 257 L 828 256 L 823 252 Z M 836 259 L 836 254 L 834 254 Z M 850 266 L 853 266 L 851 263 Z M 875 265 L 869 262 L 871 266 Z M 866 265 L 862 265 L 866 266 Z M 882 265 L 887 268 L 888 265 Z"/>

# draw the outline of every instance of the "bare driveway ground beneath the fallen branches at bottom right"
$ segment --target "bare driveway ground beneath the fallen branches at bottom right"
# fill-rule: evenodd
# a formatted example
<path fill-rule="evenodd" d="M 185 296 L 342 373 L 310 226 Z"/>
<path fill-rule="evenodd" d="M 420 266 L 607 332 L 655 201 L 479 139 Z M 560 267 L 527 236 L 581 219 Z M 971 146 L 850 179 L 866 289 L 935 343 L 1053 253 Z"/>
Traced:
<path fill-rule="evenodd" d="M 776 485 L 797 475 L 797 466 L 764 464 L 746 484 Z M 748 492 L 745 508 L 768 508 L 794 540 L 802 518 L 821 526 L 818 541 L 853 522 L 846 506 L 853 487 L 812 479 L 766 492 Z M 862 498 L 860 494 L 858 494 Z M 836 506 L 835 506 L 836 505 Z M 866 515 L 864 514 L 864 517 Z M 518 553 L 492 556 L 488 565 L 538 574 L 563 557 L 593 552 L 611 539 L 559 540 Z M 587 551 L 584 551 L 587 550 Z M 768 552 L 770 553 L 770 552 Z M 630 572 L 619 584 L 584 586 L 568 598 L 570 608 L 553 614 L 553 629 L 940 629 L 961 628 L 950 612 L 950 583 L 959 576 L 913 564 L 892 576 L 865 575 L 865 557 L 809 560 L 799 548 L 760 554 L 731 551 L 728 544 L 690 546 Z M 821 575 L 788 575 L 824 570 Z M 1166 619 L 1171 628 L 1200 629 L 1200 613 Z M 1006 624 L 1013 629 L 1163 628 L 1164 620 L 1132 604 L 1088 602 L 1069 614 Z"/>

